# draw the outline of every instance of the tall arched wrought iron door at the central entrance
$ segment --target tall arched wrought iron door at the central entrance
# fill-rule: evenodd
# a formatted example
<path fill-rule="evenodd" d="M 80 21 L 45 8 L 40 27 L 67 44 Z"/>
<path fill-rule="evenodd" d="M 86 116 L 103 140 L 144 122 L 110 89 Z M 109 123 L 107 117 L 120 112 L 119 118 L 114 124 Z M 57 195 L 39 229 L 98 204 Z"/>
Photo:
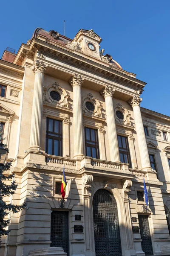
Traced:
<path fill-rule="evenodd" d="M 117 204 L 108 190 L 99 189 L 94 194 L 93 216 L 96 256 L 121 256 Z"/>

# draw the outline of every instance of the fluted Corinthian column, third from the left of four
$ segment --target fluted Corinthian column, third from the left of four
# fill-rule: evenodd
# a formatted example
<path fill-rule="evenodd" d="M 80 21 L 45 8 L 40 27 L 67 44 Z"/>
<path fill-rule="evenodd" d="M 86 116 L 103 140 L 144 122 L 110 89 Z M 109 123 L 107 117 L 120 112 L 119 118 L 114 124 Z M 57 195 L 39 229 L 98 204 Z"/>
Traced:
<path fill-rule="evenodd" d="M 120 162 L 119 157 L 119 146 L 117 140 L 116 123 L 114 118 L 114 108 L 113 108 L 113 93 L 115 89 L 111 86 L 107 86 L 102 90 L 101 94 L 105 97 L 106 103 L 106 116 L 108 125 L 108 137 L 110 145 L 110 155 L 111 161 Z"/>

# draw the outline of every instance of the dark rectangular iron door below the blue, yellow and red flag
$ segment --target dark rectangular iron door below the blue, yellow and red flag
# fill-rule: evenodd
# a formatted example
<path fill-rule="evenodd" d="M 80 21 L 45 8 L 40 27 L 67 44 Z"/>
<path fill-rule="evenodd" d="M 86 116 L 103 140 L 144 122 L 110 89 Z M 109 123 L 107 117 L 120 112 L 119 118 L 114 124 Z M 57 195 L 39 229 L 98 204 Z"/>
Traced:
<path fill-rule="evenodd" d="M 51 246 L 62 247 L 68 254 L 68 212 L 51 212 Z"/>

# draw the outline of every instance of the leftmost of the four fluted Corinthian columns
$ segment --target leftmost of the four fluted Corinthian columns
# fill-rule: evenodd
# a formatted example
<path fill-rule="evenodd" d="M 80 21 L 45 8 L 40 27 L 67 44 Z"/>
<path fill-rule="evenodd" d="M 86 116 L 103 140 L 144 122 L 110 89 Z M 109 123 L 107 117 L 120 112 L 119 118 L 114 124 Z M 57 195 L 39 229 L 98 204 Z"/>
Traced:
<path fill-rule="evenodd" d="M 41 119 L 42 119 L 42 90 L 43 78 L 47 65 L 41 61 L 35 61 L 32 67 L 35 73 L 34 95 L 32 104 L 30 148 L 40 148 Z"/>

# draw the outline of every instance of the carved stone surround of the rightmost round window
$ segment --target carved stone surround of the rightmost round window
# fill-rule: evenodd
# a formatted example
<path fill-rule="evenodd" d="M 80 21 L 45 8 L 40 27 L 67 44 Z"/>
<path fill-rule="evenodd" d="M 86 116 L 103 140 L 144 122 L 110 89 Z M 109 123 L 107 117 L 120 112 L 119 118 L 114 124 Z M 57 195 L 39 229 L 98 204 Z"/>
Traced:
<path fill-rule="evenodd" d="M 123 114 L 123 119 L 120 119 L 117 115 L 116 115 L 116 111 L 120 111 Z M 125 124 L 125 125 L 130 125 L 130 112 L 125 109 L 120 103 L 118 103 L 114 109 L 114 116 L 115 116 L 115 120 L 116 122 Z"/>

